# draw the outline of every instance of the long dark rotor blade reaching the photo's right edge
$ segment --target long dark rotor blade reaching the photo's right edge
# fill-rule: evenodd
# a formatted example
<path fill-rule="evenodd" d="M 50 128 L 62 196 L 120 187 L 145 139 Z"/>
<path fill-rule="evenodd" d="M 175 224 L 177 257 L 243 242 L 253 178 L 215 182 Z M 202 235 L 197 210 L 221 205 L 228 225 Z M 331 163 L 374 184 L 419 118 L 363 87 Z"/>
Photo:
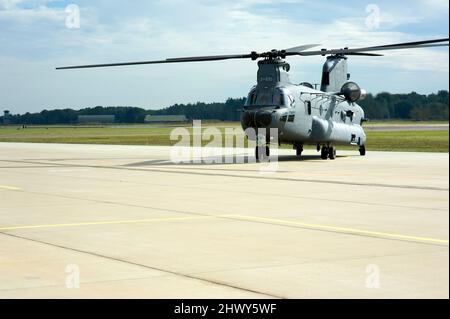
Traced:
<path fill-rule="evenodd" d="M 330 55 L 330 54 L 342 54 L 348 55 L 350 53 L 365 53 L 372 51 L 386 51 L 386 50 L 401 50 L 401 49 L 415 49 L 415 48 L 431 48 L 431 47 L 442 47 L 448 46 L 448 43 L 444 44 L 442 42 L 448 42 L 449 39 L 437 39 L 437 40 L 427 40 L 418 42 L 407 42 L 407 43 L 396 43 L 382 46 L 356 48 L 356 49 L 334 49 L 334 50 L 320 50 L 320 51 L 306 51 L 300 52 L 298 55 L 301 56 L 312 56 L 312 55 Z"/>

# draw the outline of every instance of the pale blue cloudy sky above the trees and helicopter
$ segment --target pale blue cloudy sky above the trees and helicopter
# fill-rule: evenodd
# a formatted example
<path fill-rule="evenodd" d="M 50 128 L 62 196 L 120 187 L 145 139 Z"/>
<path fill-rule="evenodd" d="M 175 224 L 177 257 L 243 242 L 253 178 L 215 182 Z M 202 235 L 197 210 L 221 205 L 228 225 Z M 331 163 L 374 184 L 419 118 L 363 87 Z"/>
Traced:
<path fill-rule="evenodd" d="M 0 111 L 224 101 L 247 94 L 256 63 L 54 67 L 434 39 L 448 20 L 447 0 L 0 0 Z M 320 82 L 323 57 L 289 62 L 294 83 Z M 373 93 L 448 89 L 448 48 L 352 57 L 350 72 Z"/>

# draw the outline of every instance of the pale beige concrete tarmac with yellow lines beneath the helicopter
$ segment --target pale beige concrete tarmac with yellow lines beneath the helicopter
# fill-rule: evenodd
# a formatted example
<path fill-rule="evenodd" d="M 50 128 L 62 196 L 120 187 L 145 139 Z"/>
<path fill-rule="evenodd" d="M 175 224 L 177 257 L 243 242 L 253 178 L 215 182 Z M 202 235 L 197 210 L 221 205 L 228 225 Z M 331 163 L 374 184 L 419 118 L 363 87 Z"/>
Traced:
<path fill-rule="evenodd" d="M 449 297 L 448 154 L 170 152 L 0 143 L 0 298 Z"/>

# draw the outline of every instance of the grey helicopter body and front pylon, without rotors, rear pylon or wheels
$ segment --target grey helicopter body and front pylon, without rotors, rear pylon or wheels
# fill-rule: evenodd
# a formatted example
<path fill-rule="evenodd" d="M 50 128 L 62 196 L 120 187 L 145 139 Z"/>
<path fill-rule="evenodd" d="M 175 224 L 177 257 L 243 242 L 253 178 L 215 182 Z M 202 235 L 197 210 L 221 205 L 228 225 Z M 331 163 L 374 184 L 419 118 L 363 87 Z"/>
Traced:
<path fill-rule="evenodd" d="M 276 140 L 301 147 L 304 144 L 364 147 L 363 109 L 339 92 L 292 84 L 288 71 L 289 65 L 282 60 L 260 62 L 258 84 L 250 91 L 243 108 L 242 128 L 259 132 L 266 129 L 267 144 Z M 260 134 L 248 134 L 249 139 L 258 137 Z"/>

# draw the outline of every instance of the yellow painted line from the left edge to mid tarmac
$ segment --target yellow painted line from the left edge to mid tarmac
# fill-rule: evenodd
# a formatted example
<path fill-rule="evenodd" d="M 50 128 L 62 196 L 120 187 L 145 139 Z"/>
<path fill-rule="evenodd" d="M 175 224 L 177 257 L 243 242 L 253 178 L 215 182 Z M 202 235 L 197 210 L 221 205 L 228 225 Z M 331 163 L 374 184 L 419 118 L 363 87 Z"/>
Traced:
<path fill-rule="evenodd" d="M 8 230 L 24 230 L 24 229 L 41 229 L 41 228 L 65 228 L 78 226 L 98 226 L 98 225 L 122 225 L 122 224 L 143 224 L 143 223 L 158 223 L 158 222 L 172 222 L 172 221 L 189 221 L 215 218 L 215 216 L 195 216 L 195 217 L 172 217 L 172 218 L 151 218 L 151 219 L 133 219 L 133 220 L 113 220 L 113 221 L 97 221 L 84 223 L 69 223 L 69 224 L 46 224 L 46 225 L 28 225 L 28 226 L 11 226 L 0 227 L 0 231 Z"/>

